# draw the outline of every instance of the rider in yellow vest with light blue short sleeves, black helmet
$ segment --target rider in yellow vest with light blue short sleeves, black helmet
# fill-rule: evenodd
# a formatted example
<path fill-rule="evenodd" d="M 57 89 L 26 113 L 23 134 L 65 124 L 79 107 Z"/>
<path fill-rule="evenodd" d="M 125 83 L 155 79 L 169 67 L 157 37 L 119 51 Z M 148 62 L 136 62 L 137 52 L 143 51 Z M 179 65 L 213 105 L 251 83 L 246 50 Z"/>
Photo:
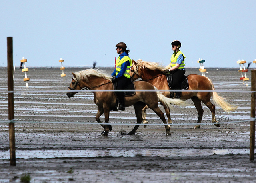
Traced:
<path fill-rule="evenodd" d="M 174 90 L 180 90 L 181 89 L 181 84 L 182 84 L 182 79 L 183 76 L 186 72 L 185 70 L 185 56 L 184 54 L 179 50 L 181 47 L 181 42 L 178 40 L 175 40 L 171 43 L 172 45 L 172 50 L 174 53 L 172 54 L 171 57 L 171 62 L 168 66 L 170 68 L 166 71 L 164 71 L 164 74 L 167 74 L 170 72 L 172 74 L 172 79 L 173 79 L 173 86 Z M 176 98 L 180 98 L 181 92 L 175 92 Z M 174 97 L 174 96 L 171 96 Z"/>

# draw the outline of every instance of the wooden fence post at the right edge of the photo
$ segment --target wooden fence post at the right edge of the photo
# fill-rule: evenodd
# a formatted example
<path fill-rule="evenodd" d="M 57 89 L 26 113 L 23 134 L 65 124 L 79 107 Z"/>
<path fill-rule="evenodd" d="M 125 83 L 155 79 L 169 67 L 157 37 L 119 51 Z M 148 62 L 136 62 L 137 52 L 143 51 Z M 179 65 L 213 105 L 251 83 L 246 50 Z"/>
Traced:
<path fill-rule="evenodd" d="M 256 91 L 256 70 L 252 70 L 252 93 L 251 93 L 251 118 L 250 122 L 250 160 L 254 160 L 255 149 L 255 91 Z"/>

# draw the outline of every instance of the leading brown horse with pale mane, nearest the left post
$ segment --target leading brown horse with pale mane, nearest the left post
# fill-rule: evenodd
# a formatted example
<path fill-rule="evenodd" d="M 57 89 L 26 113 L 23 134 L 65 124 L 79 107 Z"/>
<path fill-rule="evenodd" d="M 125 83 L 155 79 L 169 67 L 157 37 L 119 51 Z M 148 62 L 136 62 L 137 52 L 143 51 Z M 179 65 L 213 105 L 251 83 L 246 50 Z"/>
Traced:
<path fill-rule="evenodd" d="M 96 121 L 100 121 L 100 116 L 105 114 L 105 123 L 109 121 L 109 113 L 116 104 L 116 95 L 113 91 L 96 91 L 95 90 L 113 90 L 113 85 L 111 82 L 110 76 L 104 74 L 101 70 L 88 69 L 76 73 L 72 73 L 74 78 L 69 86 L 69 90 L 72 92 L 67 92 L 68 97 L 74 97 L 74 94 L 78 93 L 75 90 L 81 90 L 82 88 L 88 88 L 89 90 L 94 90 L 94 103 L 98 105 L 98 112 L 96 114 Z M 136 90 L 156 90 L 156 88 L 148 82 L 134 82 Z M 164 117 L 164 113 L 158 107 L 158 101 L 161 101 L 168 107 L 172 107 L 170 103 L 175 105 L 185 105 L 186 103 L 180 99 L 169 99 L 162 95 L 161 92 L 153 91 L 136 91 L 132 96 L 125 97 L 125 107 L 134 106 L 135 114 L 137 117 L 137 123 L 142 122 L 142 109 L 147 105 L 152 109 L 163 121 L 164 124 L 167 124 Z M 102 136 L 108 136 L 108 132 L 112 130 L 111 125 L 101 124 L 104 128 Z M 134 135 L 139 125 L 136 125 L 132 131 L 127 135 Z M 170 135 L 170 126 L 165 125 L 166 135 Z"/>

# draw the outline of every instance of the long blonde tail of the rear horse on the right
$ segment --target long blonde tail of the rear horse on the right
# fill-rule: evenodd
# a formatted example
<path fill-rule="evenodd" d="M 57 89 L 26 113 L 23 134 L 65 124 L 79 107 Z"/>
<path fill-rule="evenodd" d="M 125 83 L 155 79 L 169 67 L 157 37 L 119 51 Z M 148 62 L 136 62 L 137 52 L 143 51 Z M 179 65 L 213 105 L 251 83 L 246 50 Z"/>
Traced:
<path fill-rule="evenodd" d="M 211 83 L 212 90 L 215 90 L 212 80 L 210 80 L 210 78 L 208 78 L 208 80 Z M 219 96 L 217 92 L 212 92 L 213 102 L 216 103 L 219 107 L 221 107 L 225 112 L 231 112 L 237 109 L 238 106 L 228 103 L 227 101 L 225 101 L 225 99 L 226 97 Z"/>

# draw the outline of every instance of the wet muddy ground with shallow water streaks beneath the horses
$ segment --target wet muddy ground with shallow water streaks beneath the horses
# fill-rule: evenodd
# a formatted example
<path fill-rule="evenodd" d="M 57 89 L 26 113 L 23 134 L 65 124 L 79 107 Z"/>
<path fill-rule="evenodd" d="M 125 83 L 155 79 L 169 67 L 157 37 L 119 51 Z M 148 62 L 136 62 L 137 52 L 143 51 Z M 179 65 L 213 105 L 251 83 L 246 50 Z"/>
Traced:
<path fill-rule="evenodd" d="M 8 119 L 6 68 L 1 69 L 1 120 Z M 31 68 L 29 88 L 25 87 L 23 73 L 16 68 L 14 77 L 16 167 L 9 166 L 8 124 L 0 123 L 0 182 L 19 182 L 24 173 L 30 173 L 31 182 L 251 182 L 255 180 L 255 161 L 249 161 L 250 123 L 202 125 L 193 129 L 197 121 L 194 106 L 175 106 L 174 124 L 170 137 L 164 126 L 141 126 L 136 135 L 121 134 L 132 130 L 136 117 L 133 107 L 110 113 L 112 125 L 108 137 L 100 137 L 96 122 L 97 107 L 90 92 L 78 93 L 68 99 L 66 90 L 71 82 L 71 71 L 66 68 L 65 81 L 59 68 Z M 103 68 L 107 74 L 112 68 Z M 210 69 L 216 90 L 247 91 L 239 80 L 237 69 Z M 186 74 L 200 74 L 198 69 L 187 69 Z M 248 73 L 250 77 L 250 72 Z M 34 91 L 34 92 L 31 92 Z M 47 92 L 36 92 L 47 90 Z M 219 122 L 250 119 L 250 93 L 220 92 L 239 105 L 233 113 L 216 107 Z M 188 101 L 192 104 L 191 101 Z M 163 110 L 163 107 L 160 106 Z M 203 105 L 202 123 L 210 123 L 209 109 Z M 164 110 L 163 110 L 164 111 Z M 151 124 L 162 121 L 153 111 L 147 111 Z M 104 118 L 102 118 L 104 120 Z M 72 169 L 72 171 L 70 171 Z M 69 172 L 69 173 L 68 173 Z M 72 173 L 71 173 L 72 172 Z"/>

